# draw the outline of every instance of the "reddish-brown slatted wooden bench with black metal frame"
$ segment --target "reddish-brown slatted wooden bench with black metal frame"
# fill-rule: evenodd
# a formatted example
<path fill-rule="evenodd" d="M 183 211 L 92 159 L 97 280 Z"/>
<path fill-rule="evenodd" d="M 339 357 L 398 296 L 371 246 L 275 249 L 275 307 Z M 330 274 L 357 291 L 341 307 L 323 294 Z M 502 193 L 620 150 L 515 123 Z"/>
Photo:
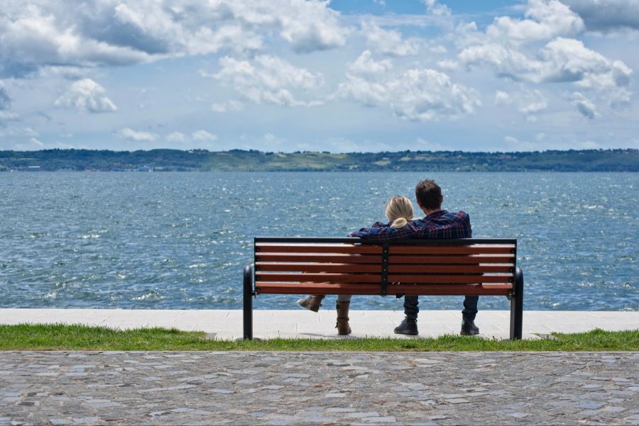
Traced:
<path fill-rule="evenodd" d="M 255 237 L 244 267 L 244 339 L 258 294 L 506 296 L 510 339 L 521 339 L 523 274 L 517 240 Z"/>

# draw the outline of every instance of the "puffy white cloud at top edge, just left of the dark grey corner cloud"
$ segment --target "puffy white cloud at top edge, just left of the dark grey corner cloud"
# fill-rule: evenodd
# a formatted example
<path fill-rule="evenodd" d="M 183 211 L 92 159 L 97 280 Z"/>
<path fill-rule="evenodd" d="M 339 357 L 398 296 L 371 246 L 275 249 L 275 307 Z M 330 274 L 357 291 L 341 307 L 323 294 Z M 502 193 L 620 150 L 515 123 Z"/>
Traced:
<path fill-rule="evenodd" d="M 584 30 L 579 15 L 557 0 L 529 0 L 525 16 L 532 19 L 500 16 L 486 28 L 486 35 L 493 40 L 530 43 L 559 35 L 573 36 Z"/>

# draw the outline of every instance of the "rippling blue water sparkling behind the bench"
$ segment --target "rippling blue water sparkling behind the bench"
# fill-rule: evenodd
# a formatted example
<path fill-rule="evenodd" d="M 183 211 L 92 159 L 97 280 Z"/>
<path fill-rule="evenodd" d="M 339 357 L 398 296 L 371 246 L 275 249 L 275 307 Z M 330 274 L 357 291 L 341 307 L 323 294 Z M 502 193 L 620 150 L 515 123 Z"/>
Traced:
<path fill-rule="evenodd" d="M 525 309 L 639 310 L 639 174 L 602 173 L 2 173 L 0 307 L 239 309 L 254 235 L 346 236 L 425 176 L 444 208 L 470 214 L 475 237 L 518 238 Z"/>

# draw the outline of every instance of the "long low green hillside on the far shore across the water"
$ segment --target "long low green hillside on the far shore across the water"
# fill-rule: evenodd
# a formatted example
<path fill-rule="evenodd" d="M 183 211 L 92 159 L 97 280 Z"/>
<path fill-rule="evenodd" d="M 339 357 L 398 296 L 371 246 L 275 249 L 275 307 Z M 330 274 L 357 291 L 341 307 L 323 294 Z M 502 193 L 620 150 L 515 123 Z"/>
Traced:
<path fill-rule="evenodd" d="M 639 172 L 639 150 L 544 152 L 0 151 L 0 171 Z"/>

